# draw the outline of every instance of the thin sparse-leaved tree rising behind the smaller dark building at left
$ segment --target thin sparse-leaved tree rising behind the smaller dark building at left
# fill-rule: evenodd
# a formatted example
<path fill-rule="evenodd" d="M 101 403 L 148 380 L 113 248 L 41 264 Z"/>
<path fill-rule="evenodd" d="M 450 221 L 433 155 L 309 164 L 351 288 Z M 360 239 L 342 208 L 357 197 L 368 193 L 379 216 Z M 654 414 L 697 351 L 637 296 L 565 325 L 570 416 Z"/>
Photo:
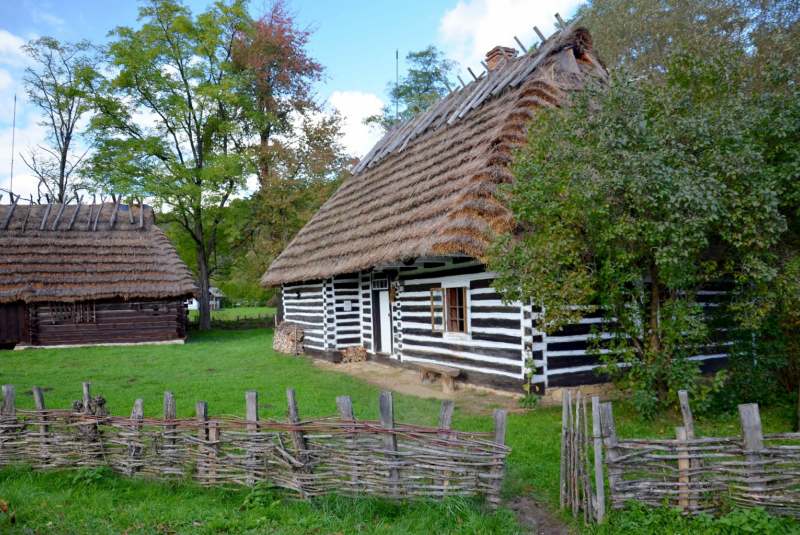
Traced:
<path fill-rule="evenodd" d="M 81 188 L 76 182 L 78 166 L 86 151 L 75 151 L 78 122 L 89 111 L 87 86 L 92 82 L 97 60 L 87 41 L 59 43 L 40 37 L 22 47 L 33 65 L 26 67 L 23 86 L 31 104 L 39 108 L 47 130 L 47 144 L 28 149 L 25 165 L 39 179 L 53 202 L 63 203 Z"/>

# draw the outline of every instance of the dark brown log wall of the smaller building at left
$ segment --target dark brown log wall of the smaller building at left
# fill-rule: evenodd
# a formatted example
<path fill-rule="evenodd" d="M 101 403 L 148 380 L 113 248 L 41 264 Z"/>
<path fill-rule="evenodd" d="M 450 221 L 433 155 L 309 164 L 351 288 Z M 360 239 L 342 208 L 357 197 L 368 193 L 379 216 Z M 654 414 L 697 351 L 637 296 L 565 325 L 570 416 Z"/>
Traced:
<path fill-rule="evenodd" d="M 31 345 L 135 344 L 184 340 L 182 299 L 34 303 L 28 306 Z"/>

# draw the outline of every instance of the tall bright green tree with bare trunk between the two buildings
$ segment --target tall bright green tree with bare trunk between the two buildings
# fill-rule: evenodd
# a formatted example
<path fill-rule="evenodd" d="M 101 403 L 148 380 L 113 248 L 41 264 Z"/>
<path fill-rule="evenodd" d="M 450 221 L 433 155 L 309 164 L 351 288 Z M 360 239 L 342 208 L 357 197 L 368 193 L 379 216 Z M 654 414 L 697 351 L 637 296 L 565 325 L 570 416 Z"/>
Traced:
<path fill-rule="evenodd" d="M 232 62 L 250 18 L 244 0 L 197 16 L 179 0 L 147 0 L 139 20 L 139 30 L 111 32 L 112 75 L 95 87 L 88 172 L 108 191 L 153 199 L 163 221 L 191 239 L 200 328 L 209 329 L 220 222 L 251 170 L 246 95 Z"/>

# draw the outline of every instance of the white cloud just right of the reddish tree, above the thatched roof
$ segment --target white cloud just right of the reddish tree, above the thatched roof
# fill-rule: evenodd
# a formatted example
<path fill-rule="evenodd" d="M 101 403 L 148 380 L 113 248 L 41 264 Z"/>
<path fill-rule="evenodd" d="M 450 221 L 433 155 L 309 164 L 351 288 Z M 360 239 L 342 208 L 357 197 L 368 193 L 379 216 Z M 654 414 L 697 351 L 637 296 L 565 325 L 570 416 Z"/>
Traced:
<path fill-rule="evenodd" d="M 372 93 L 361 91 L 334 91 L 328 100 L 344 118 L 342 143 L 347 152 L 363 157 L 383 135 L 366 126 L 364 119 L 380 113 L 383 101 Z"/>

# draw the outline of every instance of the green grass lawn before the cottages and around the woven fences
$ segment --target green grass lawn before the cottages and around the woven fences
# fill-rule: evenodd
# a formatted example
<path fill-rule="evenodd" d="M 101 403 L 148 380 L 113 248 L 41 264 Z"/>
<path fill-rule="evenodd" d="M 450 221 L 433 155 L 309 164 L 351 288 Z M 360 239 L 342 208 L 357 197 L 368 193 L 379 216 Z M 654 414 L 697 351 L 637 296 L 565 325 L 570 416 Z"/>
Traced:
<path fill-rule="evenodd" d="M 208 402 L 209 414 L 244 415 L 244 392 L 253 389 L 259 391 L 259 403 L 270 406 L 260 409 L 259 416 L 280 419 L 286 413 L 285 389 L 293 386 L 301 417 L 336 414 L 336 396 L 348 394 L 357 418 L 379 418 L 377 387 L 315 369 L 307 357 L 276 354 L 271 342 L 270 330 L 256 330 L 193 333 L 182 346 L 5 351 L 0 352 L 0 383 L 16 385 L 18 407 L 32 409 L 33 397 L 23 393 L 33 385 L 53 389 L 45 394 L 48 407 L 66 408 L 81 397 L 81 382 L 91 381 L 92 393 L 108 400 L 112 414 L 130 413 L 141 397 L 145 414 L 155 417 L 161 416 L 165 390 L 175 393 L 178 417 L 190 417 L 199 400 Z M 394 399 L 398 422 L 436 425 L 439 400 L 400 394 Z M 662 430 L 671 436 L 680 425 L 677 414 L 645 423 L 624 402 L 616 402 L 614 408 L 620 436 L 660 436 Z M 792 410 L 763 411 L 765 432 L 790 430 Z M 514 451 L 508 459 L 506 498 L 524 495 L 551 507 L 558 503 L 560 421 L 560 408 L 509 415 L 507 443 Z M 491 431 L 492 420 L 457 405 L 453 427 Z M 697 428 L 698 434 L 737 434 L 738 418 L 700 420 Z M 230 533 L 517 533 L 521 529 L 508 509 L 488 513 L 471 501 L 398 507 L 371 500 L 330 498 L 307 504 L 263 496 L 262 507 L 246 509 L 245 496 L 246 490 L 204 490 L 110 475 L 86 485 L 74 473 L 5 469 L 0 471 L 0 499 L 16 510 L 17 523 L 10 525 L 0 514 L 0 533 L 23 534 L 26 529 L 219 533 L 225 527 Z"/>

